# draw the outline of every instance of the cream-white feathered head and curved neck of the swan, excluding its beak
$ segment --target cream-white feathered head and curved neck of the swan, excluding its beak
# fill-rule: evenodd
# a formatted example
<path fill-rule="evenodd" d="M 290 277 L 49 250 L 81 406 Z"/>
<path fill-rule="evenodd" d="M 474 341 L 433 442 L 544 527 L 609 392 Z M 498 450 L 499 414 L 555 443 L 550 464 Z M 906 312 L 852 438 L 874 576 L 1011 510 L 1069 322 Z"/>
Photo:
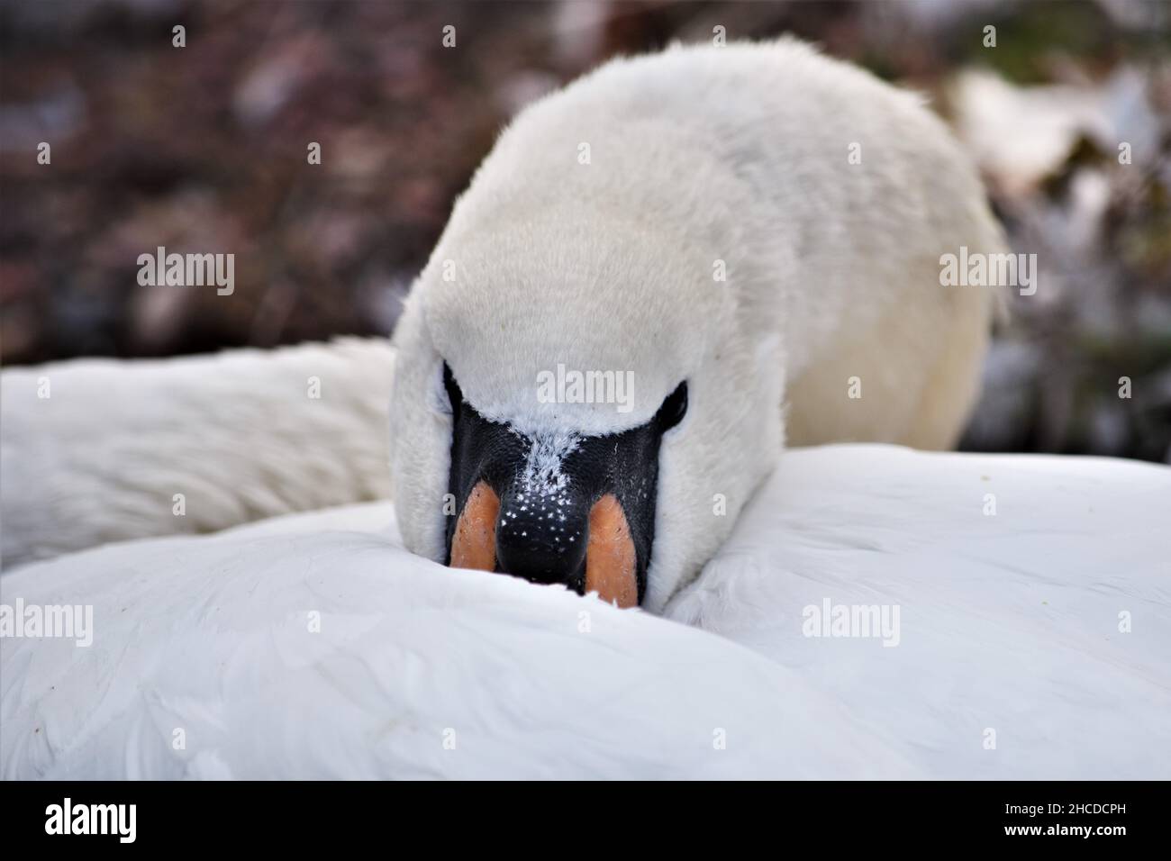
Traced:
<path fill-rule="evenodd" d="M 940 287 L 939 259 L 960 246 L 1001 239 L 944 125 L 799 42 L 676 47 L 541 100 L 457 203 L 396 333 L 408 547 L 444 558 L 444 361 L 472 405 L 525 433 L 621 431 L 686 380 L 689 415 L 660 453 L 644 602 L 660 610 L 786 433 L 954 443 L 991 307 L 979 288 Z M 632 409 L 541 403 L 539 374 L 559 364 L 632 371 Z"/>

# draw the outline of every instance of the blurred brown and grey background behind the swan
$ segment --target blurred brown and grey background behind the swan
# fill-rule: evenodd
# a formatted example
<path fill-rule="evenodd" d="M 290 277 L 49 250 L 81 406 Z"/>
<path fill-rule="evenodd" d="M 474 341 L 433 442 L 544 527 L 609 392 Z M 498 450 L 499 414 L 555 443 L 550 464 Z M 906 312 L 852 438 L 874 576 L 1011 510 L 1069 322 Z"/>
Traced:
<path fill-rule="evenodd" d="M 615 54 L 788 32 L 929 94 L 1038 254 L 964 446 L 1171 463 L 1169 19 L 1165 0 L 6 1 L 0 361 L 388 334 L 523 104 Z M 159 245 L 233 252 L 234 294 L 141 287 Z"/>

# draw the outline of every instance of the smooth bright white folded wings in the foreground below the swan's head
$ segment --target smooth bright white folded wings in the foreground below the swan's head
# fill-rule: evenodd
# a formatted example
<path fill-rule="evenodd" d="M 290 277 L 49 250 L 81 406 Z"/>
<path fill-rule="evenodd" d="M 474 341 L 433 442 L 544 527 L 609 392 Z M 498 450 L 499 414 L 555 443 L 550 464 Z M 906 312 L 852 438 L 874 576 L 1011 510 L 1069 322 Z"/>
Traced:
<path fill-rule="evenodd" d="M 88 551 L 0 578 L 95 613 L 0 640 L 0 773 L 1166 779 L 1169 506 L 1162 466 L 788 451 L 696 627 L 443 568 L 388 504 Z M 802 636 L 824 597 L 899 644 Z"/>

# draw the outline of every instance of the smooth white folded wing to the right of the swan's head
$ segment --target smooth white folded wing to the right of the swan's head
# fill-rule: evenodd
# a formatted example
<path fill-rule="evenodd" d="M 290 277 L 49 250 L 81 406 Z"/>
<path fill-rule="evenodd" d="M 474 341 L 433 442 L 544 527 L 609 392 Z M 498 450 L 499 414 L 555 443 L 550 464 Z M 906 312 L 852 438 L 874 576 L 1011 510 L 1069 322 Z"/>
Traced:
<path fill-rule="evenodd" d="M 1166 779 L 1169 511 L 1151 464 L 788 452 L 666 615 L 796 671 L 922 777 Z M 897 604 L 899 644 L 806 637 L 826 599 Z"/>

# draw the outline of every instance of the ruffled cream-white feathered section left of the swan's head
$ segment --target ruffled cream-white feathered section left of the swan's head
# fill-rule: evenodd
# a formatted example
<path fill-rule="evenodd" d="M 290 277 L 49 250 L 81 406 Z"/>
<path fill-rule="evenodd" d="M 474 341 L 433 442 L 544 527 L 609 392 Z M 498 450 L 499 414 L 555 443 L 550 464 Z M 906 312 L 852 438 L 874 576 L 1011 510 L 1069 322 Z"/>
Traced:
<path fill-rule="evenodd" d="M 6 369 L 4 565 L 385 497 L 392 371 L 381 339 Z"/>

